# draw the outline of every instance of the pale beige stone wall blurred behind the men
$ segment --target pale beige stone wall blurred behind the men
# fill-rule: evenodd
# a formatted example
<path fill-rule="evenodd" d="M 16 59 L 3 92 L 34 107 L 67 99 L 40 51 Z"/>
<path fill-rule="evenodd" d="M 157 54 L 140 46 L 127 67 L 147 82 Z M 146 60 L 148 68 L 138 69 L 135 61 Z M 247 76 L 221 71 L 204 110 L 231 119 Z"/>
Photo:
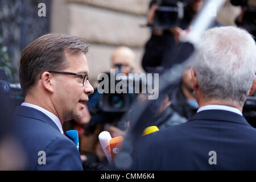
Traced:
<path fill-rule="evenodd" d="M 51 6 L 51 32 L 85 38 L 91 45 L 88 53 L 90 78 L 110 71 L 110 57 L 118 46 L 135 52 L 141 71 L 143 47 L 150 38 L 146 14 L 150 0 L 54 0 Z M 240 9 L 226 2 L 217 15 L 223 24 L 234 24 Z"/>

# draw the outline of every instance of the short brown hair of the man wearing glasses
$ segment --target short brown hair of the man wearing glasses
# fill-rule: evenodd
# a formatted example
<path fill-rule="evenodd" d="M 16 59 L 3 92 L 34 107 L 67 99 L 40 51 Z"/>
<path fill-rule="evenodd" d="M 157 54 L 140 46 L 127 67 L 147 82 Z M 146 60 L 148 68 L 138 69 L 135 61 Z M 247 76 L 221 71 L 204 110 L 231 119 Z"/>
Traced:
<path fill-rule="evenodd" d="M 28 45 L 20 57 L 19 81 L 24 94 L 43 72 L 68 67 L 64 52 L 79 55 L 88 52 L 89 44 L 77 36 L 46 34 Z"/>

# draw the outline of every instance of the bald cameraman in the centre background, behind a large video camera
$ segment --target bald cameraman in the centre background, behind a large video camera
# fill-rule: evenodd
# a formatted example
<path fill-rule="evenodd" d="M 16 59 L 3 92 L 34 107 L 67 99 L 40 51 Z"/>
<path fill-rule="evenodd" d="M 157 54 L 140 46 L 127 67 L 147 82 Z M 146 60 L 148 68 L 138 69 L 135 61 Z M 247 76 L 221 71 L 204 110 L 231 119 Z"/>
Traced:
<path fill-rule="evenodd" d="M 110 61 L 111 68 L 115 69 L 115 74 L 123 73 L 128 75 L 129 73 L 138 72 L 138 66 L 135 64 L 135 53 L 129 47 L 117 47 L 113 51 Z M 91 120 L 88 125 L 85 125 L 85 135 L 82 137 L 85 142 L 81 146 L 81 150 L 84 151 L 83 154 L 87 156 L 86 162 L 83 163 L 86 170 L 109 169 L 108 160 L 106 160 L 100 142 L 98 142 L 98 134 L 101 131 L 109 131 L 112 137 L 117 137 L 124 136 L 129 129 L 127 121 L 120 121 L 124 112 L 115 113 L 113 111 L 111 113 L 105 111 L 105 107 L 109 105 L 105 101 L 100 106 L 102 97 L 103 94 L 98 93 L 97 88 L 95 88 L 94 93 L 90 95 L 90 100 L 87 102 Z M 108 102 L 111 101 L 108 100 Z"/>

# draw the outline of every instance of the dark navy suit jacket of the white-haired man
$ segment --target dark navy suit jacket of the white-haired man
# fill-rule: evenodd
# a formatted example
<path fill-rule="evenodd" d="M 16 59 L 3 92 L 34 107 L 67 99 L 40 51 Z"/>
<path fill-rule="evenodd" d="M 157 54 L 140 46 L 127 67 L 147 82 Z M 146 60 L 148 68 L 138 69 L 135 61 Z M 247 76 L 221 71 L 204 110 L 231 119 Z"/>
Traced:
<path fill-rule="evenodd" d="M 256 129 L 236 113 L 205 110 L 142 137 L 133 158 L 139 170 L 256 170 Z"/>

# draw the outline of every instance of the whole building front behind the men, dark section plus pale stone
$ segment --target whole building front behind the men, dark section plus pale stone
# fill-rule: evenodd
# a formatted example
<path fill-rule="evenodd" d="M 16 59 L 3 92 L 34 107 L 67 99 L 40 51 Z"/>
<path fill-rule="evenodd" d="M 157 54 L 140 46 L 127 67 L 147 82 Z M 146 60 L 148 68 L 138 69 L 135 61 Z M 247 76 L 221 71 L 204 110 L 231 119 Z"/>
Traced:
<path fill-rule="evenodd" d="M 46 4 L 46 17 L 38 16 L 38 4 Z M 150 38 L 146 15 L 150 0 L 2 0 L 0 1 L 0 36 L 8 47 L 18 70 L 22 50 L 48 32 L 59 32 L 85 38 L 90 78 L 110 71 L 110 57 L 118 46 L 135 52 L 140 71 L 144 44 Z M 222 24 L 234 24 L 240 7 L 225 6 L 217 15 Z M 16 76 L 18 80 L 18 76 Z"/>

